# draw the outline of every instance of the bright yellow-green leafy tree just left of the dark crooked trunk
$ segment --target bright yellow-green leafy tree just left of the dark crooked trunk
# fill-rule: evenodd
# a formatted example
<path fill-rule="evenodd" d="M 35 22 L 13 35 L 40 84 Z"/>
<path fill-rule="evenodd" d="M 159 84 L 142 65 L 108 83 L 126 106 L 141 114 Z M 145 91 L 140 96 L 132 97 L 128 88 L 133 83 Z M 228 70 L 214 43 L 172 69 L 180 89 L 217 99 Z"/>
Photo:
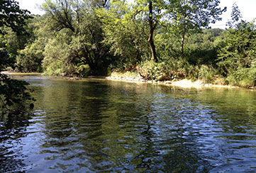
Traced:
<path fill-rule="evenodd" d="M 104 25 L 103 43 L 116 57 L 114 67 L 128 69 L 148 55 L 148 28 L 144 21 L 135 19 L 130 5 L 114 1 L 108 9 L 97 9 L 96 13 Z"/>

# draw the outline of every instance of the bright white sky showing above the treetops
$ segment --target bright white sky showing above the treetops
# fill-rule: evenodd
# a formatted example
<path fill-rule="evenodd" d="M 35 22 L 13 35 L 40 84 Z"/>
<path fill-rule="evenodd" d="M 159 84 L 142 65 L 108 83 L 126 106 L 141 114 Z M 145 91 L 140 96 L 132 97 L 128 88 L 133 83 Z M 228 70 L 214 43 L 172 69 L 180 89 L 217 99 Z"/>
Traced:
<path fill-rule="evenodd" d="M 28 9 L 33 14 L 43 15 L 43 11 L 40 11 L 38 5 L 42 4 L 45 0 L 17 0 L 21 6 L 21 9 Z M 226 28 L 226 22 L 230 19 L 230 13 L 232 11 L 232 5 L 234 2 L 240 9 L 243 20 L 252 21 L 256 18 L 256 0 L 220 0 L 220 6 L 227 7 L 227 11 L 221 16 L 222 21 L 217 21 L 215 24 L 211 24 L 212 28 Z"/>

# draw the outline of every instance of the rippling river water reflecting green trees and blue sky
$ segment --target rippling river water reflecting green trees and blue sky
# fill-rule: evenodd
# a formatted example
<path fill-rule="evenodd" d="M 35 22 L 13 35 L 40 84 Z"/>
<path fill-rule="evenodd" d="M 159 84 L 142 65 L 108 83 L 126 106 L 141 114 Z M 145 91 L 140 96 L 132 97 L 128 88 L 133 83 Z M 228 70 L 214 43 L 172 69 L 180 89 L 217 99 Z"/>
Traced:
<path fill-rule="evenodd" d="M 0 172 L 256 172 L 256 91 L 23 79 L 35 115 L 0 126 Z"/>

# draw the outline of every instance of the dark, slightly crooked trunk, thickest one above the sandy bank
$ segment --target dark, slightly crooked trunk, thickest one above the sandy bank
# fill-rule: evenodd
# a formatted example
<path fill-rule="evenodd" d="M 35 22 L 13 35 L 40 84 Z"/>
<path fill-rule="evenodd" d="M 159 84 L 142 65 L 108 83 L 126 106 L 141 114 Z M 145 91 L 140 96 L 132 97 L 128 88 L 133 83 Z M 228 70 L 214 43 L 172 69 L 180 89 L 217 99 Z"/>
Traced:
<path fill-rule="evenodd" d="M 152 53 L 152 60 L 154 62 L 158 62 L 157 53 L 155 52 L 155 44 L 153 41 L 155 26 L 153 26 L 152 1 L 150 1 L 150 4 L 149 4 L 149 24 L 150 24 L 150 35 L 148 36 L 148 43 L 150 45 L 150 49 Z"/>

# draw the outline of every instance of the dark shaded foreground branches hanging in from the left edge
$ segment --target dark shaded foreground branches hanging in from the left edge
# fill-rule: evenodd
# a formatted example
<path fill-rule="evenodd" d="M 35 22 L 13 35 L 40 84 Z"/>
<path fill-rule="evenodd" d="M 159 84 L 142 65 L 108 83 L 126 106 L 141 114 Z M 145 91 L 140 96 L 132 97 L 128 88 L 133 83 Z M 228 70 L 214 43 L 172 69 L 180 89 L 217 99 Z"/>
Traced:
<path fill-rule="evenodd" d="M 25 20 L 30 18 L 28 11 L 23 11 L 19 8 L 16 1 L 0 1 L 0 36 L 6 33 L 6 28 L 11 28 L 14 32 L 21 35 L 25 32 L 23 25 Z M 0 50 L 0 72 L 8 66 L 13 66 L 9 60 L 9 54 L 1 48 Z M 8 106 L 19 105 L 23 106 L 23 101 L 31 99 L 30 94 L 26 89 L 27 82 L 10 79 L 6 74 L 0 74 L 0 103 L 1 109 L 9 109 Z M 20 110 L 18 108 L 17 110 Z M 4 113 L 5 111 L 1 111 Z"/>

